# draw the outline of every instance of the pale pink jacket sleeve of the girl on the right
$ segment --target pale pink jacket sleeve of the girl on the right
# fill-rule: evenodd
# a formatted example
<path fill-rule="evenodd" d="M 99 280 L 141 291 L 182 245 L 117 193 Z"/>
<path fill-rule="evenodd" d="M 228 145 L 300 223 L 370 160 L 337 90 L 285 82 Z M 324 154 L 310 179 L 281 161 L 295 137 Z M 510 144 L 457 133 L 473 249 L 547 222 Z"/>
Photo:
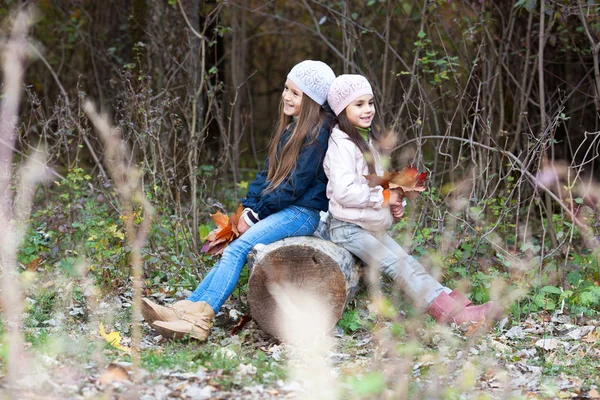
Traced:
<path fill-rule="evenodd" d="M 332 196 L 344 207 L 380 209 L 384 201 L 383 188 L 369 187 L 366 179 L 362 177 L 357 180 L 356 150 L 356 146 L 348 139 L 330 142 L 327 163 Z"/>

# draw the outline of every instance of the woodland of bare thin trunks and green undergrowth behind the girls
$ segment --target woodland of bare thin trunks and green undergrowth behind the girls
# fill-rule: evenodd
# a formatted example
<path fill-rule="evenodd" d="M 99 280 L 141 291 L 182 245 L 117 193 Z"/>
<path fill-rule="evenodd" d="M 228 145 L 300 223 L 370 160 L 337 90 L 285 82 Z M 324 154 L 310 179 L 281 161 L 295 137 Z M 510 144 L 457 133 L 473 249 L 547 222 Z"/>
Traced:
<path fill-rule="evenodd" d="M 65 304 L 65 321 L 89 325 L 90 296 L 131 299 L 132 259 L 144 295 L 195 287 L 214 263 L 199 252 L 209 214 L 244 196 L 304 59 L 367 76 L 395 165 L 430 172 L 394 227 L 428 268 L 477 302 L 502 299 L 515 321 L 597 316 L 598 2 L 4 0 L 3 43 L 31 5 L 11 149 L 16 168 L 43 145 L 51 172 L 17 254 L 35 304 L 26 341 L 47 343 Z M 123 197 L 85 100 L 120 129 L 121 176 L 137 171 L 147 203 Z M 365 312 L 339 326 L 369 331 Z"/>

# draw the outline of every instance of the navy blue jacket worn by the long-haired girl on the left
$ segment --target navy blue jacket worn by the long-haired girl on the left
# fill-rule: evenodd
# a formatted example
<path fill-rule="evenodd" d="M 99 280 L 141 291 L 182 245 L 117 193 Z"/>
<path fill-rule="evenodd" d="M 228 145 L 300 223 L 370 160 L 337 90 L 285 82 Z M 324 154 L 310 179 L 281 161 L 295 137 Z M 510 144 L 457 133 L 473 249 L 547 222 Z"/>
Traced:
<path fill-rule="evenodd" d="M 281 150 L 294 130 L 294 124 L 286 129 L 279 140 L 278 149 Z M 324 123 L 317 137 L 307 135 L 296 167 L 278 187 L 267 194 L 263 190 L 269 185 L 267 174 L 269 172 L 269 159 L 265 161 L 262 171 L 256 174 L 256 179 L 249 185 L 246 199 L 242 201 L 244 207 L 251 208 L 258 214 L 258 218 L 265 219 L 271 214 L 289 206 L 312 208 L 317 211 L 327 210 L 328 200 L 325 190 L 327 176 L 323 171 L 323 159 L 327 151 L 331 123 Z"/>

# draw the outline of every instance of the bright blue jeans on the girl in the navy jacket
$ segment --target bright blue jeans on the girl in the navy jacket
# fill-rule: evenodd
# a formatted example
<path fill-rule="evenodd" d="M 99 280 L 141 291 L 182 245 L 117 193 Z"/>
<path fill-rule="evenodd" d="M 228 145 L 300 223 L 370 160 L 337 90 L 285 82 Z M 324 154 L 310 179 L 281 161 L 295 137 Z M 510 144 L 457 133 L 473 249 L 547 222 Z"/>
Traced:
<path fill-rule="evenodd" d="M 319 212 L 310 208 L 291 206 L 251 226 L 242 236 L 229 243 L 223 256 L 188 297 L 205 301 L 215 314 L 235 289 L 246 257 L 257 244 L 270 244 L 291 236 L 312 235 L 319 223 Z"/>

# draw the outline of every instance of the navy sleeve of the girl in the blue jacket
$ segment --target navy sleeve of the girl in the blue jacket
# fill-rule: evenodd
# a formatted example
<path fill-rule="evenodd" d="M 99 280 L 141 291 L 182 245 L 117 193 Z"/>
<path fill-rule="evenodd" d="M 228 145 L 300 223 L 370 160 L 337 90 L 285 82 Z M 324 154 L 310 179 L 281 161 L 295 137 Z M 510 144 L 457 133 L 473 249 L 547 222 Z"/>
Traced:
<path fill-rule="evenodd" d="M 293 205 L 317 179 L 317 172 L 322 168 L 327 151 L 328 137 L 329 131 L 324 127 L 321 128 L 317 139 L 300 149 L 296 167 L 291 175 L 273 191 L 263 195 L 255 208 L 252 207 L 261 220 Z"/>

